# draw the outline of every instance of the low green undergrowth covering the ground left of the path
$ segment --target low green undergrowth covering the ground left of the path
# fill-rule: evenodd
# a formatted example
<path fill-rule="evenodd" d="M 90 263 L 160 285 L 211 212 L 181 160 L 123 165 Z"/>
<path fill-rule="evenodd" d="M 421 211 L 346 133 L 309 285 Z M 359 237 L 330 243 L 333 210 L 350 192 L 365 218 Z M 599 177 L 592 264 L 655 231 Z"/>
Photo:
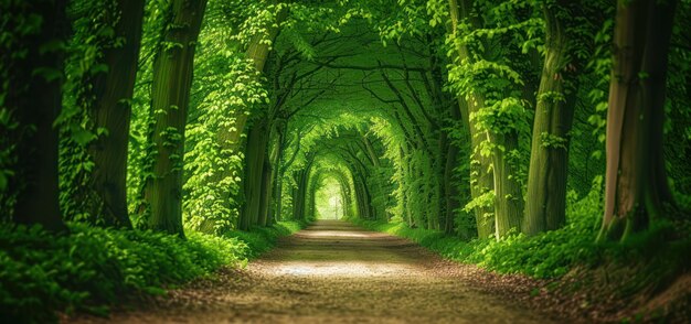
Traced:
<path fill-rule="evenodd" d="M 68 224 L 68 235 L 39 226 L 0 224 L 0 318 L 44 323 L 59 312 L 107 314 L 127 295 L 163 294 L 223 267 L 244 267 L 300 225 L 281 222 L 253 233 L 216 237 Z"/>

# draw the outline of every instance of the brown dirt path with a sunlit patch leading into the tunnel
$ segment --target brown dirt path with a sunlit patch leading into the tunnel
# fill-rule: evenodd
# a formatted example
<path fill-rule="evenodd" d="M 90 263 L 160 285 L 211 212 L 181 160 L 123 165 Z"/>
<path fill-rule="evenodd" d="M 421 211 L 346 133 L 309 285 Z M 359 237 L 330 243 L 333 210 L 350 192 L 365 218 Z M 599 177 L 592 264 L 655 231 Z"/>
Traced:
<path fill-rule="evenodd" d="M 504 295 L 474 288 L 467 280 L 474 271 L 397 237 L 320 220 L 284 238 L 246 270 L 172 291 L 108 322 L 551 322 Z"/>

